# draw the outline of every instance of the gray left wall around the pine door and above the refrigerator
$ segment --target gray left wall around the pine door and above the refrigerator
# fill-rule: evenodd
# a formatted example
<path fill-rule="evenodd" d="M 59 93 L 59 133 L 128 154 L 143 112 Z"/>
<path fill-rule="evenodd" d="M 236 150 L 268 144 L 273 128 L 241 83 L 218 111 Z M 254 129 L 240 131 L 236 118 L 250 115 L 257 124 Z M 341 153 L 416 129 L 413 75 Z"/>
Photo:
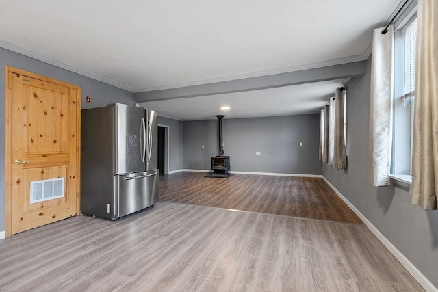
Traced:
<path fill-rule="evenodd" d="M 5 230 L 5 66 L 79 85 L 82 109 L 101 107 L 108 103 L 134 104 L 132 92 L 0 47 L 0 103 L 3 105 L 0 107 L 0 165 L 3 165 L 0 168 L 0 231 Z M 90 96 L 91 103 L 86 103 L 86 96 Z"/>

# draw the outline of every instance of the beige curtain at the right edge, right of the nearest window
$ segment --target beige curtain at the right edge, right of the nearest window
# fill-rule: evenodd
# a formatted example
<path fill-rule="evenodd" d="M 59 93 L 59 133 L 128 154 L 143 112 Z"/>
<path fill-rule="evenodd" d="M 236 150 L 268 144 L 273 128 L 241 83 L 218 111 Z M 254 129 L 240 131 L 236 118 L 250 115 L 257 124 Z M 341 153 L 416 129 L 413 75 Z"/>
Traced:
<path fill-rule="evenodd" d="M 438 192 L 438 1 L 418 1 L 417 67 L 409 201 L 437 209 Z"/>

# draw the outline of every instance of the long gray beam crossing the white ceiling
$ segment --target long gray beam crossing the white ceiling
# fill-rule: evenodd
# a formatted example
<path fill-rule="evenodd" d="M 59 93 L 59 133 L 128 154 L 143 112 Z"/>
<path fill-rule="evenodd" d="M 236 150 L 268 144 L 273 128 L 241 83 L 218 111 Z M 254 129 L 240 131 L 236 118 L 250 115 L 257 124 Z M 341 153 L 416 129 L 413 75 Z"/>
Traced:
<path fill-rule="evenodd" d="M 261 77 L 250 77 L 181 88 L 137 92 L 134 94 L 134 100 L 138 103 L 142 103 L 146 101 L 164 101 L 175 98 L 263 90 L 289 85 L 359 77 L 365 75 L 365 72 L 366 61 L 360 61 Z"/>

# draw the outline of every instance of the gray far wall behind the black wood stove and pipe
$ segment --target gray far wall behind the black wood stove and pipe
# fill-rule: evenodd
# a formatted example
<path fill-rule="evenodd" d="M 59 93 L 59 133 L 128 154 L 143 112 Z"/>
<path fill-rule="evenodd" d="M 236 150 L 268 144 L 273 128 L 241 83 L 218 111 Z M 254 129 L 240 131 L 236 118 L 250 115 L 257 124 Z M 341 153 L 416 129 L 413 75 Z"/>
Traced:
<path fill-rule="evenodd" d="M 320 174 L 319 114 L 224 118 L 224 155 L 231 171 Z M 300 146 L 302 142 L 303 146 Z M 205 148 L 202 148 L 202 146 Z M 218 155 L 218 120 L 183 122 L 183 168 L 209 170 Z M 255 152 L 261 155 L 255 155 Z"/>

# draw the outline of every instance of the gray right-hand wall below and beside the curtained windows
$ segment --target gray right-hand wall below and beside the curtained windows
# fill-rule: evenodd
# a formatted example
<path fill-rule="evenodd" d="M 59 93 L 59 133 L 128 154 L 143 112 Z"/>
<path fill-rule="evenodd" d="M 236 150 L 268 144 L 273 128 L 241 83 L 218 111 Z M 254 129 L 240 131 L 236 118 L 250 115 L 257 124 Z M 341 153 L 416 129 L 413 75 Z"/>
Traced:
<path fill-rule="evenodd" d="M 369 59 L 367 75 L 347 84 L 348 170 L 323 163 L 322 175 L 438 287 L 438 212 L 409 204 L 409 190 L 404 187 L 368 183 L 370 63 Z"/>

